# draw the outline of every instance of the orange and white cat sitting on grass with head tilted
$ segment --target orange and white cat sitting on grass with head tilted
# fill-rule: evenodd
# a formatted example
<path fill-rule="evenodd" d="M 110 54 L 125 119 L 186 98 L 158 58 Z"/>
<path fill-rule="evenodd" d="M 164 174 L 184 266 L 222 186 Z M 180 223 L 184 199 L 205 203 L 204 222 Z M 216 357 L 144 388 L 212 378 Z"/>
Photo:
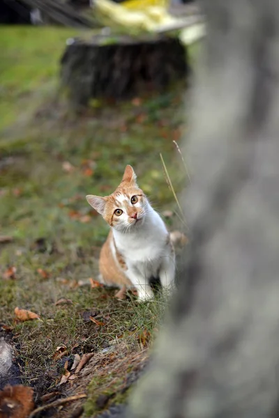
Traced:
<path fill-rule="evenodd" d="M 153 297 L 151 278 L 159 278 L 163 288 L 173 286 L 175 255 L 163 219 L 136 179 L 128 165 L 115 192 L 86 199 L 111 227 L 100 251 L 99 280 L 119 286 L 119 296 L 126 288 L 136 288 L 139 300 L 144 301 Z"/>

